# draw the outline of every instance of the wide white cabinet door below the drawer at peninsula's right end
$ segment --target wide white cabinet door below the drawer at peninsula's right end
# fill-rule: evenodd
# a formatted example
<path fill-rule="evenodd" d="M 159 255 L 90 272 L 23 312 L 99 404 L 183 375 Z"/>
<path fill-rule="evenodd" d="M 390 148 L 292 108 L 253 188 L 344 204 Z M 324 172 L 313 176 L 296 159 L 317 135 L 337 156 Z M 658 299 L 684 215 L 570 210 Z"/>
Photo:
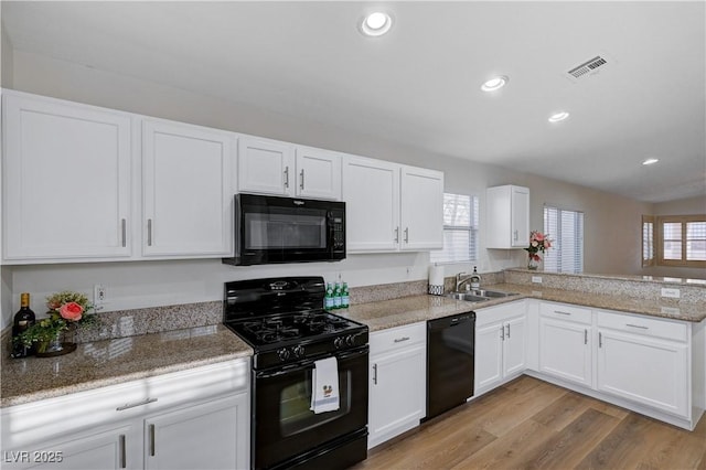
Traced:
<path fill-rule="evenodd" d="M 688 348 L 684 343 L 600 330 L 598 389 L 688 418 Z"/>

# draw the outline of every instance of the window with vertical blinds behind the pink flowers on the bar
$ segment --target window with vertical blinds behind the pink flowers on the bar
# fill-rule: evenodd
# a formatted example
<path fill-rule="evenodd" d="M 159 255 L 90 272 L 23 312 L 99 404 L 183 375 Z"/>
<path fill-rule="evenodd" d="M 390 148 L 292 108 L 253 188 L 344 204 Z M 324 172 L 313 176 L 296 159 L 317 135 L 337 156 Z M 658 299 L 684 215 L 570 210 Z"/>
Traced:
<path fill-rule="evenodd" d="M 554 241 L 544 253 L 544 270 L 581 273 L 584 270 L 584 213 L 544 206 L 544 233 Z"/>

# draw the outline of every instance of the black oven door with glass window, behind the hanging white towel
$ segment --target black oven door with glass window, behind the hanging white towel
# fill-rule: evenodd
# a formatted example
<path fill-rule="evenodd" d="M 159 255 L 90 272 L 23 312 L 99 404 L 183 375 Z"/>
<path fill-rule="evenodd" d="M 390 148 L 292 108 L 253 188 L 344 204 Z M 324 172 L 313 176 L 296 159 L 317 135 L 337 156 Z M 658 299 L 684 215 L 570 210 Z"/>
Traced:
<path fill-rule="evenodd" d="M 367 426 L 368 348 L 336 354 L 341 406 L 311 412 L 313 361 L 253 372 L 253 468 L 270 468 L 318 449 L 333 449 L 340 437 Z"/>

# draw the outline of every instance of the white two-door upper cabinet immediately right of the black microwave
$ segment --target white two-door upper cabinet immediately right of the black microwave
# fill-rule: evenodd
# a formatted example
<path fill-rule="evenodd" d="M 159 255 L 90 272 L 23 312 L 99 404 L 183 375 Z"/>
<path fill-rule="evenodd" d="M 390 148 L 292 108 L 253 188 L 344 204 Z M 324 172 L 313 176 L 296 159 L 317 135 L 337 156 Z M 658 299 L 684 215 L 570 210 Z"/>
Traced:
<path fill-rule="evenodd" d="M 443 245 L 443 173 L 345 156 L 349 252 L 395 252 Z"/>

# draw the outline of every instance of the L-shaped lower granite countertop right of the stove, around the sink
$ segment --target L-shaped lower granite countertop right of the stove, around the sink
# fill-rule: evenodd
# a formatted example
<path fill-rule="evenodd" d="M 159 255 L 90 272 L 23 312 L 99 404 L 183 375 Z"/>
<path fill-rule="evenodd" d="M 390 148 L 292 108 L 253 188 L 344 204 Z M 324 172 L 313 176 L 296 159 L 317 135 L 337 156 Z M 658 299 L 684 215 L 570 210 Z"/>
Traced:
<path fill-rule="evenodd" d="M 515 292 L 517 296 L 498 298 L 484 302 L 467 302 L 436 296 L 413 296 L 355 305 L 346 310 L 338 310 L 336 313 L 366 324 L 370 331 L 374 332 L 524 298 L 535 298 L 682 321 L 699 322 L 706 320 L 706 307 L 703 303 L 680 302 L 672 299 L 649 300 L 628 296 L 596 295 L 514 284 L 483 286 L 483 289 Z"/>

